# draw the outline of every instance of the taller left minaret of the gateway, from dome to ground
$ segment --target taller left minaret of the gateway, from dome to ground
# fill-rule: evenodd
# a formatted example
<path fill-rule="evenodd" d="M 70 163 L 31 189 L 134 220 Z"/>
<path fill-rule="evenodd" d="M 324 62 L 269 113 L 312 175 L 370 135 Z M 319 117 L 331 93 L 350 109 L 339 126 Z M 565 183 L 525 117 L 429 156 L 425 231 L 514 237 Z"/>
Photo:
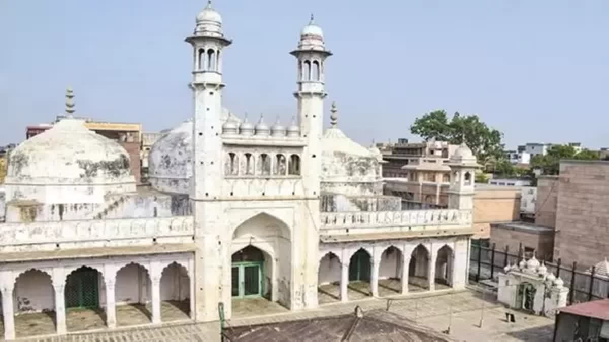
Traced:
<path fill-rule="evenodd" d="M 222 49 L 231 41 L 222 33 L 222 18 L 211 1 L 197 15 L 194 34 L 186 38 L 193 47 L 194 160 L 191 201 L 194 212 L 196 321 L 217 321 L 222 289 L 222 237 L 218 234 L 222 184 Z M 230 291 L 230 288 L 228 288 Z M 226 303 L 230 305 L 229 303 Z"/>

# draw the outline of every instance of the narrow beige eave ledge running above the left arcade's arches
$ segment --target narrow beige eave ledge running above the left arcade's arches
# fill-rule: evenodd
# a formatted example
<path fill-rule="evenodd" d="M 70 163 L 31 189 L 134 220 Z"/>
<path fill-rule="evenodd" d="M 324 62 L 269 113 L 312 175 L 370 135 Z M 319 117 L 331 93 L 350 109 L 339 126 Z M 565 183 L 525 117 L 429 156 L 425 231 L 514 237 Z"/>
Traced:
<path fill-rule="evenodd" d="M 74 259 L 83 257 L 135 256 L 140 254 L 167 254 L 192 252 L 194 243 L 166 243 L 148 246 L 73 248 L 56 251 L 2 252 L 0 262 Z"/>

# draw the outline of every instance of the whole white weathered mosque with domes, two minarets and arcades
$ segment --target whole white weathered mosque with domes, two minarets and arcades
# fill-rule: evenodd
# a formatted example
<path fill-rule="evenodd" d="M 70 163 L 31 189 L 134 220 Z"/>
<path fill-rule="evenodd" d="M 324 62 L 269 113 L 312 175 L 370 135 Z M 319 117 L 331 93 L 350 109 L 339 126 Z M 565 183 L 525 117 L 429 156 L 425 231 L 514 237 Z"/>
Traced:
<path fill-rule="evenodd" d="M 470 148 L 449 160 L 448 209 L 403 210 L 383 195 L 379 150 L 340 130 L 336 104 L 323 129 L 333 54 L 312 18 L 290 52 L 297 109 L 287 125 L 222 106 L 232 41 L 211 5 L 186 42 L 194 113 L 153 145 L 149 186 L 136 187 L 121 145 L 71 116 L 10 155 L 0 223 L 6 340 L 37 312 L 52 313 L 63 335 L 72 308 L 100 310 L 115 329 L 126 324 L 122 305 L 142 304 L 149 324 L 161 324 L 162 305 L 179 302 L 189 320 L 219 327 L 236 301 L 297 311 L 465 287 L 479 167 Z"/>

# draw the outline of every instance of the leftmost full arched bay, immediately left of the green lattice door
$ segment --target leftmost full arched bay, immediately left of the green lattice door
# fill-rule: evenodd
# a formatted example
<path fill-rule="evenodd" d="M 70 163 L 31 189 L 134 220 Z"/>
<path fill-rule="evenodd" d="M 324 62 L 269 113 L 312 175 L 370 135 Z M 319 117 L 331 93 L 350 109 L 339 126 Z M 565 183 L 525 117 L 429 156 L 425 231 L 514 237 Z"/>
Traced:
<path fill-rule="evenodd" d="M 32 269 L 19 274 L 13 288 L 15 335 L 55 334 L 55 290 L 51 276 Z"/>

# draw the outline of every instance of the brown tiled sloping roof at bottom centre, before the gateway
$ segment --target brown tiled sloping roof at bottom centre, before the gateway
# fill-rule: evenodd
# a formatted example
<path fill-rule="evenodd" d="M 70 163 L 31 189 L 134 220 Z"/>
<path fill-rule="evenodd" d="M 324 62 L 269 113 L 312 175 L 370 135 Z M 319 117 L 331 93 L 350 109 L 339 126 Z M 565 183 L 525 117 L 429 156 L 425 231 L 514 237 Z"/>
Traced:
<path fill-rule="evenodd" d="M 362 316 L 341 315 L 227 327 L 231 342 L 452 342 L 447 335 L 418 326 L 403 316 L 385 310 L 364 312 Z"/>

